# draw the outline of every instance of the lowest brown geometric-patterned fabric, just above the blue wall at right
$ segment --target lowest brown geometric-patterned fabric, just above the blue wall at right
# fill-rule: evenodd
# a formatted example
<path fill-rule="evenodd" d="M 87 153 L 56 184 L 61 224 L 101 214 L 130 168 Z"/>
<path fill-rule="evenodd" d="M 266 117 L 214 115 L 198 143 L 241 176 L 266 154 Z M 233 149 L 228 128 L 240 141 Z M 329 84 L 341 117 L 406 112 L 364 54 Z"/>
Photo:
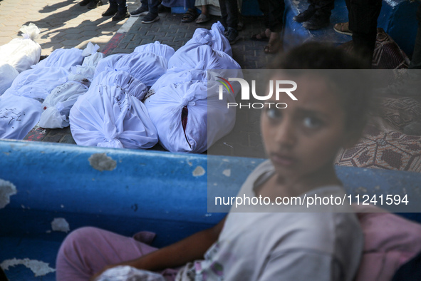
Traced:
<path fill-rule="evenodd" d="M 338 153 L 336 165 L 421 172 L 421 136 L 370 125 L 357 145 Z"/>

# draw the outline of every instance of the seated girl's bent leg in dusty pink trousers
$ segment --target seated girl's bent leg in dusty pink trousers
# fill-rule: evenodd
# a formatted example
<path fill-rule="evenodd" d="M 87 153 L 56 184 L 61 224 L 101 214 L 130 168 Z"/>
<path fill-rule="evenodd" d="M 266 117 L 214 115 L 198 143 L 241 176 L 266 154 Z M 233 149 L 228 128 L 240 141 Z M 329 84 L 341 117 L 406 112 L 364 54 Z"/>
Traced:
<path fill-rule="evenodd" d="M 79 228 L 63 241 L 56 260 L 56 279 L 89 280 L 107 265 L 133 260 L 157 250 L 131 237 L 98 228 Z"/>

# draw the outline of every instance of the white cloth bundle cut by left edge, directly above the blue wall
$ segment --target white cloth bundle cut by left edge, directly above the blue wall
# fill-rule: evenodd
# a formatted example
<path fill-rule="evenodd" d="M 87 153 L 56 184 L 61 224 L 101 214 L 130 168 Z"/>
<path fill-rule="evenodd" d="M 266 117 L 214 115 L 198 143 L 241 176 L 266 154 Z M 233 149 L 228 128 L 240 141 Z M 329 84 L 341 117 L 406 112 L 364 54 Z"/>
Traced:
<path fill-rule="evenodd" d="M 21 140 L 41 116 L 41 103 L 24 96 L 0 96 L 0 138 Z"/>

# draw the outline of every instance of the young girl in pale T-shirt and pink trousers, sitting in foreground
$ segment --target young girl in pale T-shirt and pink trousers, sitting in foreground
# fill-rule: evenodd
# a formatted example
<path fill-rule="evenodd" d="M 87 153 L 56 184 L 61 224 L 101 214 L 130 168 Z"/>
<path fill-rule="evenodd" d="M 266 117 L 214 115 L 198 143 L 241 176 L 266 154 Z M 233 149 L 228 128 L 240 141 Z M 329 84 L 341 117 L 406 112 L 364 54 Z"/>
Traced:
<path fill-rule="evenodd" d="M 360 66 L 336 48 L 305 44 L 276 68 Z M 297 101 L 284 95 L 268 103 L 284 102 L 287 108 L 263 109 L 261 133 L 269 160 L 249 175 L 238 196 L 261 195 L 274 203 L 276 198 L 344 194 L 333 160 L 341 147 L 358 140 L 368 103 L 364 91 L 343 90 L 341 77 L 348 76 L 338 75 L 337 81 L 316 71 L 274 71 L 273 79 L 297 83 Z M 271 205 L 263 209 L 270 212 L 239 213 L 250 209 L 233 207 L 213 228 L 160 250 L 105 230 L 81 228 L 61 245 L 57 280 L 94 280 L 117 265 L 155 272 L 180 267 L 175 280 L 353 280 L 363 249 L 355 214 L 346 213 L 346 204 L 318 205 L 311 213 L 305 209 Z M 168 272 L 161 274 L 174 278 Z"/>

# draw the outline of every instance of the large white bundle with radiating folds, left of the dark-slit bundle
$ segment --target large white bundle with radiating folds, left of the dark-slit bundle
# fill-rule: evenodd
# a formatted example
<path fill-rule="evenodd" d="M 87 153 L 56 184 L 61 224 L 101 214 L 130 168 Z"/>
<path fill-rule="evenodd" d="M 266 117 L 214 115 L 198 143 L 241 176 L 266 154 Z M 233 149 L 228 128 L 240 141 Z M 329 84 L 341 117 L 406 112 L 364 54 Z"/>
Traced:
<path fill-rule="evenodd" d="M 143 103 L 147 87 L 124 71 L 105 71 L 78 98 L 70 126 L 78 145 L 108 148 L 151 148 L 157 131 Z"/>

